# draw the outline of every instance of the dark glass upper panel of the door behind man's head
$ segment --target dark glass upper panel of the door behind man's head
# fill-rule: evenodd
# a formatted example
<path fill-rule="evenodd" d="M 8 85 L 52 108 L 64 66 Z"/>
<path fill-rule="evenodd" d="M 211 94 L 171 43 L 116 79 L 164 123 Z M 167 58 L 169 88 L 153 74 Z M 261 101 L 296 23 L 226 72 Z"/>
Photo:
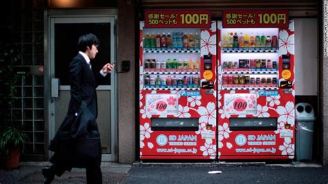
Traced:
<path fill-rule="evenodd" d="M 91 61 L 94 73 L 99 73 L 104 64 L 110 61 L 110 23 L 55 24 L 55 78 L 61 85 L 69 85 L 69 63 L 78 54 L 76 45 L 80 35 L 95 34 L 100 40 L 98 55 Z M 110 85 L 110 76 L 100 85 Z"/>

